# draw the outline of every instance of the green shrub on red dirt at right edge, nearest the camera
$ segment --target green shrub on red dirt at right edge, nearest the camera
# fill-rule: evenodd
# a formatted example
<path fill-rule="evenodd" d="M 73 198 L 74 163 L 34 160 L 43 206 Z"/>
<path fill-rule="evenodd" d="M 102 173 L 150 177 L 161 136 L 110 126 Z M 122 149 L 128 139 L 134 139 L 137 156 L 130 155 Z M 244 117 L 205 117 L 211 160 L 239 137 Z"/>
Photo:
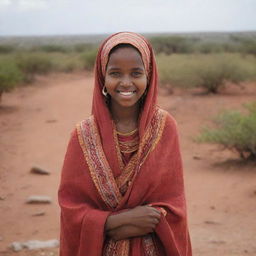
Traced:
<path fill-rule="evenodd" d="M 204 127 L 197 142 L 217 143 L 243 159 L 256 160 L 256 102 L 245 104 L 247 114 L 225 111 L 215 118 L 217 128 Z"/>

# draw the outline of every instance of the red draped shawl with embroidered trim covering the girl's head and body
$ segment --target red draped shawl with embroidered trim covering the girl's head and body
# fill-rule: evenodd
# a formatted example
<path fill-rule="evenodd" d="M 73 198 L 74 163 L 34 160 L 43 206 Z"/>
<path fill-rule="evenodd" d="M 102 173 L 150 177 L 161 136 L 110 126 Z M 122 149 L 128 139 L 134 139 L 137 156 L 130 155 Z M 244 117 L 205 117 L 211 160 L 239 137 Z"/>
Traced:
<path fill-rule="evenodd" d="M 136 46 L 135 38 L 140 45 L 146 44 L 150 63 L 148 92 L 139 119 L 139 149 L 126 166 L 101 93 L 104 46 L 111 40 L 120 43 L 120 38 L 121 43 Z M 156 106 L 156 98 L 157 70 L 148 42 L 127 32 L 106 39 L 96 60 L 92 116 L 77 124 L 63 164 L 58 192 L 60 256 L 192 255 L 177 125 Z M 110 214 L 145 204 L 163 211 L 155 233 L 118 242 L 105 236 Z"/>

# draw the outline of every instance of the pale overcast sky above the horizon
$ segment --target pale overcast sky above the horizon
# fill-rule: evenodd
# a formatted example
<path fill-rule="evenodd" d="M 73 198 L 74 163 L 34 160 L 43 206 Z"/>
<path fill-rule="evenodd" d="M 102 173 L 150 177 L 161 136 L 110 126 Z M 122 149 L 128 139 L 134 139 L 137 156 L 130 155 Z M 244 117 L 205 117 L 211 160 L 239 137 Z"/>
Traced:
<path fill-rule="evenodd" d="M 0 35 L 256 30 L 256 0 L 0 0 Z"/>

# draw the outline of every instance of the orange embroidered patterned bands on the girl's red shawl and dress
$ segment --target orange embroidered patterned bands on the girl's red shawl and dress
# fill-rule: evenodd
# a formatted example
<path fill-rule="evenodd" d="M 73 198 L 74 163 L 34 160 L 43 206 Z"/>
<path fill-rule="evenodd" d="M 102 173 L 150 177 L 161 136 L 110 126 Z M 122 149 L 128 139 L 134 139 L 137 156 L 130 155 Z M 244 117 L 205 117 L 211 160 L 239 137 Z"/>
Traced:
<path fill-rule="evenodd" d="M 110 209 L 115 209 L 121 202 L 123 195 L 127 192 L 148 154 L 156 147 L 162 136 L 165 119 L 166 112 L 157 109 L 141 143 L 139 144 L 137 153 L 135 153 L 129 163 L 123 167 L 121 175 L 117 177 L 116 180 L 104 154 L 94 117 L 91 116 L 77 124 L 79 143 L 88 164 L 90 175 L 102 200 Z M 114 139 L 118 157 L 121 157 L 116 132 L 114 132 Z M 121 165 L 121 158 L 119 159 L 119 162 Z M 143 246 L 147 256 L 158 255 L 156 246 L 150 235 L 143 238 Z M 108 240 L 105 243 L 103 255 L 128 256 L 129 247 L 130 240 L 128 239 L 118 242 Z"/>

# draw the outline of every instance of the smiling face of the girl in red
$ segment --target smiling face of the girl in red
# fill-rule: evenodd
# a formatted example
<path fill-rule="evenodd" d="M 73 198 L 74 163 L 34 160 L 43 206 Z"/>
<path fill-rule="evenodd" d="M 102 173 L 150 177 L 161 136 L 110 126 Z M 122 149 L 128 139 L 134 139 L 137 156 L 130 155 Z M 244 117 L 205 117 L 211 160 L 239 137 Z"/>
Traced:
<path fill-rule="evenodd" d="M 135 106 L 147 88 L 147 76 L 140 53 L 132 47 L 118 48 L 109 57 L 105 86 L 111 104 Z"/>

